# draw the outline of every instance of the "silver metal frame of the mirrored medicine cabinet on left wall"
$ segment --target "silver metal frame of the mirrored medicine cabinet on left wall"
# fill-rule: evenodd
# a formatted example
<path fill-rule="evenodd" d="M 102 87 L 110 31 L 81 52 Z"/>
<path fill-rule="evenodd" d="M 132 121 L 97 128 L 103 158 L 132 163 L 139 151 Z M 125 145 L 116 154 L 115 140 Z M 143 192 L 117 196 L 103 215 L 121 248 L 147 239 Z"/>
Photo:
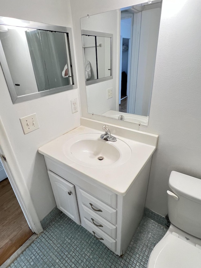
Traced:
<path fill-rule="evenodd" d="M 72 38 L 72 31 L 69 27 L 22 20 L 22 19 L 14 19 L 8 17 L 1 17 L 0 16 L 0 25 L 9 25 L 9 26 L 19 26 L 19 27 L 26 27 L 26 28 L 33 28 L 39 30 L 49 30 L 49 31 L 56 31 L 56 32 L 63 32 L 68 33 L 68 40 L 69 40 L 69 48 L 70 48 L 70 56 L 71 56 L 71 63 L 73 69 L 73 85 L 62 86 L 50 90 L 44 90 L 40 92 L 30 93 L 27 95 L 17 96 L 14 83 L 8 68 L 8 63 L 6 61 L 5 54 L 3 52 L 3 47 L 0 41 L 0 63 L 3 70 L 4 77 L 6 79 L 8 90 L 10 92 L 11 99 L 13 104 L 23 102 L 23 101 L 30 101 L 37 98 L 41 98 L 43 96 L 52 95 L 55 93 L 59 93 L 66 90 L 76 89 L 77 88 L 77 79 L 76 79 L 76 70 L 75 70 L 75 58 L 73 52 L 73 38 Z"/>

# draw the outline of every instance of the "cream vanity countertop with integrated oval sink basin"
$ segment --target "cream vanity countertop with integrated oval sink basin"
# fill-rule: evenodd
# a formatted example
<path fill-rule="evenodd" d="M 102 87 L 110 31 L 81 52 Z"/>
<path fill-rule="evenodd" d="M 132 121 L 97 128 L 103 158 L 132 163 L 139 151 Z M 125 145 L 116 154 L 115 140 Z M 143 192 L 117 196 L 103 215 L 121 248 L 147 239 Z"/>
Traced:
<path fill-rule="evenodd" d="M 125 195 L 146 164 L 150 165 L 158 136 L 115 126 L 111 134 L 117 141 L 107 141 L 100 138 L 104 132 L 97 130 L 102 126 L 103 123 L 97 123 L 97 128 L 92 129 L 81 125 L 41 146 L 38 151 L 45 156 L 49 169 L 61 177 L 69 176 L 70 179 L 74 174 L 76 178 L 82 178 L 83 185 L 85 181 L 98 183 L 116 194 Z"/>

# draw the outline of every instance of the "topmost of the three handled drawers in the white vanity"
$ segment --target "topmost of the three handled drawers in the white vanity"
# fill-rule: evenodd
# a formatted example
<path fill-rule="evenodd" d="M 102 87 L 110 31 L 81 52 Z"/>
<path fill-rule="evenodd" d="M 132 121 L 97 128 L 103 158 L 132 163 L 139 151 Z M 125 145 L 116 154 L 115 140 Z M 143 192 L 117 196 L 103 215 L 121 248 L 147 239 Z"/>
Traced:
<path fill-rule="evenodd" d="M 88 206 L 92 211 L 95 211 L 100 216 L 113 224 L 117 223 L 117 211 L 112 207 L 106 205 L 94 196 L 79 189 L 81 193 L 81 201 L 84 205 Z"/>

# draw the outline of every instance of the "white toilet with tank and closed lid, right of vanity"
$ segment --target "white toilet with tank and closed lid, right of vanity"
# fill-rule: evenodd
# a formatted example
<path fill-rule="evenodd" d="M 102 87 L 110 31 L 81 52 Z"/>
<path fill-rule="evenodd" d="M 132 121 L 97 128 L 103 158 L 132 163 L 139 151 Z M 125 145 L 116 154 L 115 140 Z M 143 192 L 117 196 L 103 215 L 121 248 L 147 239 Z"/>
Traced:
<path fill-rule="evenodd" d="M 172 171 L 168 216 L 171 225 L 153 249 L 148 268 L 201 268 L 201 180 Z"/>

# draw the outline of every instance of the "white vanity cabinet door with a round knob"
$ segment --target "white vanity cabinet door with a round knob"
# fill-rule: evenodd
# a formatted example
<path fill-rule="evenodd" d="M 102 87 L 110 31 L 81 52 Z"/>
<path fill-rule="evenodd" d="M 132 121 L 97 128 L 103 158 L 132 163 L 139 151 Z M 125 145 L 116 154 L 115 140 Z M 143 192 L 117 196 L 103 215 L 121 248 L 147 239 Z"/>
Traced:
<path fill-rule="evenodd" d="M 48 170 L 57 208 L 80 224 L 75 186 Z"/>

